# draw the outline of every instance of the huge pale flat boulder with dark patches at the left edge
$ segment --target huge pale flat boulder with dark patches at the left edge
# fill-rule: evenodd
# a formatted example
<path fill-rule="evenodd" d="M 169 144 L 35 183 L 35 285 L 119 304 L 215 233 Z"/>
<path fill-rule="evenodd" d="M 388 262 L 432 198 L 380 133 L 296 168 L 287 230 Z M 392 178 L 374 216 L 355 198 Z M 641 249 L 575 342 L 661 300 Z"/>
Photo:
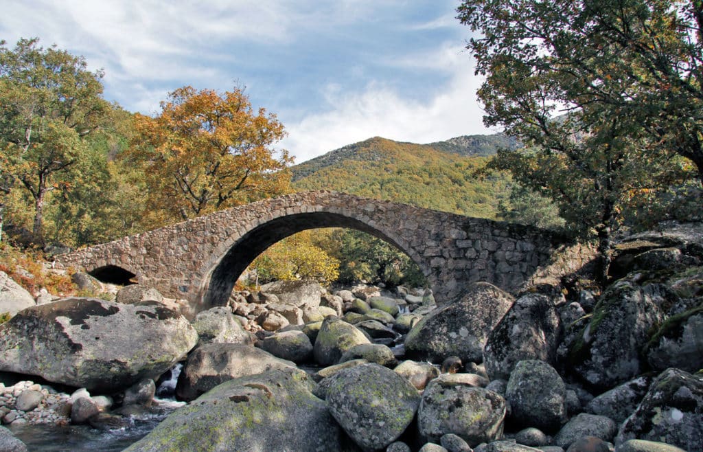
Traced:
<path fill-rule="evenodd" d="M 196 342 L 186 318 L 165 306 L 67 298 L 0 325 L 0 370 L 116 392 L 159 377 Z"/>

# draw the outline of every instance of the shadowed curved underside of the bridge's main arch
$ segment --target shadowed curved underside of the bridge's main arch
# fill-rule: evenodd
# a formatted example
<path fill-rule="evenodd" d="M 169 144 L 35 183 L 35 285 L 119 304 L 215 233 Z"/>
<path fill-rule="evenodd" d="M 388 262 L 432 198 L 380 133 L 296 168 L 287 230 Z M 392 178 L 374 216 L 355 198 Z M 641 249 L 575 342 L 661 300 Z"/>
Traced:
<path fill-rule="evenodd" d="M 415 264 L 418 264 L 425 277 L 430 277 L 430 269 L 414 250 L 363 221 L 330 212 L 291 214 L 271 219 L 252 228 L 229 247 L 206 278 L 200 298 L 201 309 L 226 305 L 237 278 L 259 254 L 271 245 L 295 233 L 316 228 L 357 229 L 378 237 L 407 254 Z"/>

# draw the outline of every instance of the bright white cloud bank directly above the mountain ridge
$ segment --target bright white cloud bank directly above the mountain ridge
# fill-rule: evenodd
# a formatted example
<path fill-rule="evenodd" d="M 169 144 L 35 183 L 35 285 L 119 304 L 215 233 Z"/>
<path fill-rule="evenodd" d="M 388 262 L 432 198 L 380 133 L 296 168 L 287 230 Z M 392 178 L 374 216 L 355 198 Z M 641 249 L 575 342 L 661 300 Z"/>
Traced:
<path fill-rule="evenodd" d="M 432 56 L 408 58 L 451 72 L 445 86 L 433 87 L 435 95 L 425 103 L 402 98 L 387 86 L 371 83 L 362 92 L 349 93 L 340 86 L 325 86 L 327 111 L 286 124 L 283 148 L 304 162 L 349 143 L 382 136 L 396 141 L 431 143 L 467 134 L 491 134 L 482 122 L 476 101 L 481 80 L 474 75 L 469 54 L 446 47 Z"/>

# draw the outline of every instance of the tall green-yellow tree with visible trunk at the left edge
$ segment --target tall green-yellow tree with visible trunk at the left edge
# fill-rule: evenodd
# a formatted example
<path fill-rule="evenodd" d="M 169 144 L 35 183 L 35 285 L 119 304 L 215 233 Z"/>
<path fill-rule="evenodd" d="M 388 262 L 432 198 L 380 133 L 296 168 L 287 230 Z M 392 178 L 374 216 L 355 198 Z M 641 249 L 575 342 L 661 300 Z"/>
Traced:
<path fill-rule="evenodd" d="M 32 196 L 34 241 L 43 245 L 47 195 L 72 186 L 88 157 L 83 138 L 98 127 L 107 103 L 101 71 L 38 42 L 20 39 L 13 50 L 0 42 L 0 172 L 4 188 L 17 183 Z"/>

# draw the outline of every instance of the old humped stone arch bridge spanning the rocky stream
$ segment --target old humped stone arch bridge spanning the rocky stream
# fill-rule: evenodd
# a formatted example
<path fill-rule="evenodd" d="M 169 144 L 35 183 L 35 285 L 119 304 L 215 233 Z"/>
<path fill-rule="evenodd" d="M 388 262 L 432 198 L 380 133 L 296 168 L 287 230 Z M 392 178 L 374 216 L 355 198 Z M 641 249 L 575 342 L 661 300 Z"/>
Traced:
<path fill-rule="evenodd" d="M 312 191 L 253 202 L 103 245 L 57 261 L 93 276 L 121 272 L 195 311 L 226 304 L 238 276 L 273 243 L 311 228 L 354 228 L 415 261 L 438 302 L 484 280 L 514 290 L 549 263 L 547 231 L 344 193 Z"/>

